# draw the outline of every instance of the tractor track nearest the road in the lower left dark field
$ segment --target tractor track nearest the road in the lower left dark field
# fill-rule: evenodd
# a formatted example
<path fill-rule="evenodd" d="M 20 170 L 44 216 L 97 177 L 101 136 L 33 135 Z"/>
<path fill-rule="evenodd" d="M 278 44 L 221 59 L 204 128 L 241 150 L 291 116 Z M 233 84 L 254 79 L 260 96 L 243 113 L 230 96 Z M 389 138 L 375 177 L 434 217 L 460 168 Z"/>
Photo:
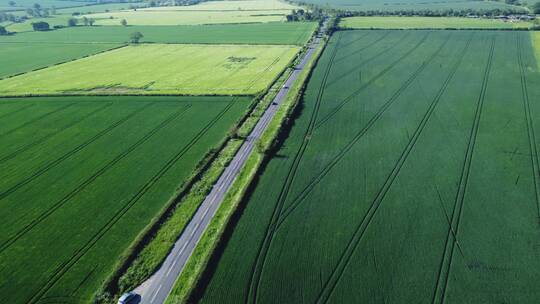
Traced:
<path fill-rule="evenodd" d="M 163 177 L 176 162 L 184 156 L 206 133 L 232 108 L 237 98 L 234 97 L 216 116 L 214 116 L 186 145 L 182 147 L 165 166 L 163 166 L 152 178 L 131 197 L 131 199 L 119 209 L 114 216 L 103 226 L 94 236 L 66 262 L 62 263 L 54 272 L 52 277 L 38 290 L 28 303 L 38 303 L 43 295 L 47 293 L 58 282 L 71 267 L 73 267 L 92 247 L 99 241 L 114 225 L 143 197 L 152 186 Z M 191 105 L 189 105 L 191 106 Z M 185 112 L 183 112 L 185 113 Z"/>

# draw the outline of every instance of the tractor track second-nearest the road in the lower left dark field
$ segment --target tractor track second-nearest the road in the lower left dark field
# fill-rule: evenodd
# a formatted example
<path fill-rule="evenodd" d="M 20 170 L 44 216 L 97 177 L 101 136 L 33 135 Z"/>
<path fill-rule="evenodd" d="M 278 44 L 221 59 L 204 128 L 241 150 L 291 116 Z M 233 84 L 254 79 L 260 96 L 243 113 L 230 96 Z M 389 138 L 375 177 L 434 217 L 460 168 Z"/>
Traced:
<path fill-rule="evenodd" d="M 112 160 L 108 161 L 104 166 L 99 168 L 97 171 L 95 171 L 91 176 L 86 178 L 82 183 L 80 183 L 75 189 L 71 190 L 67 195 L 65 195 L 62 199 L 54 203 L 49 209 L 42 212 L 39 216 L 34 218 L 30 223 L 28 223 L 26 226 L 24 226 L 21 230 L 19 230 L 17 233 L 15 233 L 13 236 L 8 238 L 6 241 L 4 241 L 0 245 L 0 253 L 8 249 L 13 243 L 15 243 L 18 239 L 23 237 L 26 233 L 31 231 L 36 225 L 47 219 L 50 215 L 52 215 L 56 210 L 64 206 L 66 203 L 68 203 L 73 197 L 75 197 L 78 193 L 83 191 L 87 186 L 91 185 L 94 181 L 96 181 L 101 175 L 108 172 L 111 168 L 114 168 L 114 166 L 120 162 L 122 159 L 124 159 L 126 156 L 128 156 L 131 152 L 135 151 L 138 147 L 140 147 L 142 144 L 144 144 L 147 140 L 149 140 L 152 136 L 154 136 L 156 133 L 158 133 L 161 129 L 166 127 L 169 123 L 171 123 L 173 120 L 181 116 L 181 114 L 184 114 L 190 106 L 181 107 L 171 115 L 167 116 L 163 121 L 161 121 L 157 126 L 152 128 L 148 133 L 146 133 L 143 137 L 141 137 L 139 140 L 137 140 L 135 143 L 131 144 L 126 150 L 122 151 L 122 153 L 115 156 Z"/>

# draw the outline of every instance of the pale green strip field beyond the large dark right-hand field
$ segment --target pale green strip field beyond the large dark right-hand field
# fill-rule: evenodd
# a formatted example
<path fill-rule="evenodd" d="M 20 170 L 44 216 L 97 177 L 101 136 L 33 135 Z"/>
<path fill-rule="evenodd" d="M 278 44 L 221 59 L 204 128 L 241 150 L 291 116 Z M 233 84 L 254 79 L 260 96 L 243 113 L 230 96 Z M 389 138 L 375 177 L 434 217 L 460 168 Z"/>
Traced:
<path fill-rule="evenodd" d="M 458 17 L 349 17 L 340 26 L 345 28 L 528 28 L 529 22 L 503 22 L 495 19 Z"/>

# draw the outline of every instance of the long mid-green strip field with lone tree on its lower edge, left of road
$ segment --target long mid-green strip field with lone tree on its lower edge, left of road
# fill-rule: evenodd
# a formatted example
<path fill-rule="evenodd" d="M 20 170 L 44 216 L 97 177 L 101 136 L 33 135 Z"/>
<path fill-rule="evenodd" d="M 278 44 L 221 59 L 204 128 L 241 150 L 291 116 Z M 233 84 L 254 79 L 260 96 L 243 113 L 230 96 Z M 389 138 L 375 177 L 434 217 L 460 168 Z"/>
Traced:
<path fill-rule="evenodd" d="M 8 42 L 126 43 L 129 41 L 129 35 L 137 31 L 144 35 L 143 39 L 141 39 L 142 42 L 303 45 L 309 40 L 316 27 L 317 23 L 315 22 L 269 22 L 201 26 L 77 26 L 49 32 L 27 32 L 0 36 L 0 45 Z M 39 45 L 35 47 L 39 47 Z"/>

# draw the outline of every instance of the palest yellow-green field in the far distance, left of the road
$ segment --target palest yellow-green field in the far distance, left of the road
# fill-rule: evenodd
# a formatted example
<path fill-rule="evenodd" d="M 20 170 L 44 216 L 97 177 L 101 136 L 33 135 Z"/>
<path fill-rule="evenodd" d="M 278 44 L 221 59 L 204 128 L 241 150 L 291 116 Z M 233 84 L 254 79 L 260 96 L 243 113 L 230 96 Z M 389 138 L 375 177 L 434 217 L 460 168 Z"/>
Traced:
<path fill-rule="evenodd" d="M 86 15 L 98 25 L 200 25 L 283 21 L 299 7 L 277 1 L 209 1 L 189 6 L 153 7 Z"/>

